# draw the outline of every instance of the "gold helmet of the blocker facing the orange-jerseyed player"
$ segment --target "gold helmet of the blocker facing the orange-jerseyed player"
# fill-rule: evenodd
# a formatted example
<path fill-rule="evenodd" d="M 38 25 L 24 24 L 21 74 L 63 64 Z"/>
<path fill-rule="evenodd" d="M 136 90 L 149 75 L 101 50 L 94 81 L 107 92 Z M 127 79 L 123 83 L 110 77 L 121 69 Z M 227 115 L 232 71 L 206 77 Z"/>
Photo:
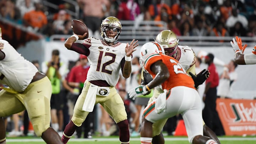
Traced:
<path fill-rule="evenodd" d="M 177 51 L 176 48 L 178 46 L 177 36 L 174 32 L 170 30 L 161 31 L 157 36 L 155 42 L 162 45 L 165 50 L 165 54 L 169 55 L 173 58 L 176 58 Z"/>

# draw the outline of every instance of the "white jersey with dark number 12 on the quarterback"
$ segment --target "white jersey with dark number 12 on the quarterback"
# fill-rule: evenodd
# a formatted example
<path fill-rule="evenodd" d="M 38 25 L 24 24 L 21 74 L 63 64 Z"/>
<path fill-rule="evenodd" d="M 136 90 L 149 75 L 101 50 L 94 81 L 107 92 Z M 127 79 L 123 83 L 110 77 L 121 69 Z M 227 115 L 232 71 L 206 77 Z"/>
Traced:
<path fill-rule="evenodd" d="M 105 80 L 109 85 L 115 86 L 119 79 L 121 60 L 126 54 L 126 43 L 118 42 L 108 46 L 102 40 L 90 37 L 85 39 L 84 44 L 91 45 L 87 56 L 90 63 L 87 80 Z"/>

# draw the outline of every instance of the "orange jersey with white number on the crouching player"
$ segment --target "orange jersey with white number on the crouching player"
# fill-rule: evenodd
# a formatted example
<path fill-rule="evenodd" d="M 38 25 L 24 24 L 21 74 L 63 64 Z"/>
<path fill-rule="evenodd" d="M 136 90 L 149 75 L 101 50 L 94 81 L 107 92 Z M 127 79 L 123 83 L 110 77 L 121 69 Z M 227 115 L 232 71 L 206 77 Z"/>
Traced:
<path fill-rule="evenodd" d="M 145 69 L 155 78 L 156 74 L 150 70 L 150 66 L 161 60 L 168 68 L 170 77 L 162 83 L 162 89 L 170 90 L 175 86 L 187 86 L 194 88 L 193 79 L 187 75 L 181 64 L 174 58 L 164 54 L 152 54 L 145 59 Z"/>

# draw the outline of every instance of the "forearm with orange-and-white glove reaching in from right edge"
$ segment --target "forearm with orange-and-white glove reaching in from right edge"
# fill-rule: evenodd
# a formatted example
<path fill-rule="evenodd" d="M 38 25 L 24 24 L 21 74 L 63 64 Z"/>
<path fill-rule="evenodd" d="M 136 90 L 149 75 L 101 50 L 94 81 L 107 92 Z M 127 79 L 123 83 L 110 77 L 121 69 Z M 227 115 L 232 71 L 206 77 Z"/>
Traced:
<path fill-rule="evenodd" d="M 241 38 L 236 36 L 236 38 L 233 38 L 233 41 L 230 41 L 230 43 L 235 52 L 234 60 L 236 64 L 256 64 L 256 46 L 254 47 L 254 49 L 252 49 L 252 53 L 244 54 L 244 50 L 247 47 L 247 44 L 242 46 Z"/>

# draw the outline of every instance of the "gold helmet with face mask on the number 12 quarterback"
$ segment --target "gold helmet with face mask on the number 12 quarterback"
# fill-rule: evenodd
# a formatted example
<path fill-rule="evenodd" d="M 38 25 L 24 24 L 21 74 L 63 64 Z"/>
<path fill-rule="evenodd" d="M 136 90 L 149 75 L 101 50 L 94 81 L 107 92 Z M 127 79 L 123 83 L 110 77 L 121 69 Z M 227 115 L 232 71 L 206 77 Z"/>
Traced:
<path fill-rule="evenodd" d="M 107 42 L 117 41 L 117 38 L 120 35 L 121 31 L 121 22 L 116 17 L 107 17 L 101 23 L 101 37 L 105 39 Z M 110 37 L 109 33 L 111 33 L 111 35 L 115 35 Z"/>

